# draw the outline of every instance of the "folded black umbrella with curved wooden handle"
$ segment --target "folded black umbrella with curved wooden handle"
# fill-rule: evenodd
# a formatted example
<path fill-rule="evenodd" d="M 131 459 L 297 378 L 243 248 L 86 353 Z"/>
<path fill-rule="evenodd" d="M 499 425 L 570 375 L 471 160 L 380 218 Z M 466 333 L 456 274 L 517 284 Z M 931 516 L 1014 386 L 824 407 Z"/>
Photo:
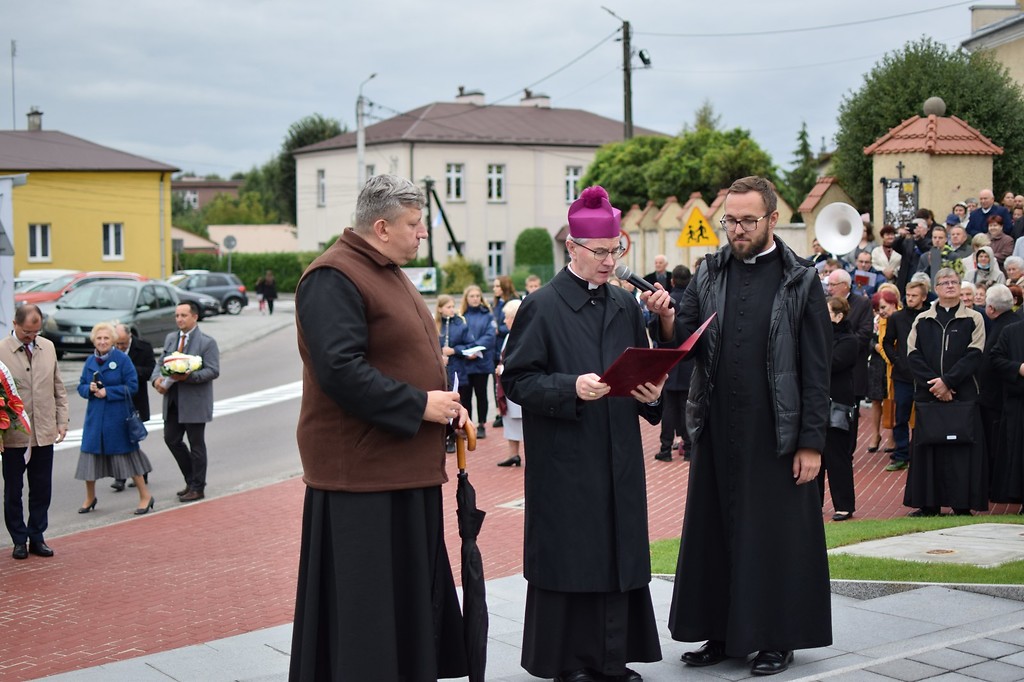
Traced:
<path fill-rule="evenodd" d="M 462 617 L 469 660 L 470 682 L 483 682 L 487 667 L 487 601 L 483 583 L 483 559 L 476 538 L 486 512 L 476 508 L 476 491 L 466 473 L 466 450 L 476 450 L 476 427 L 466 422 L 457 441 L 459 487 L 456 489 L 459 537 L 462 538 Z"/>

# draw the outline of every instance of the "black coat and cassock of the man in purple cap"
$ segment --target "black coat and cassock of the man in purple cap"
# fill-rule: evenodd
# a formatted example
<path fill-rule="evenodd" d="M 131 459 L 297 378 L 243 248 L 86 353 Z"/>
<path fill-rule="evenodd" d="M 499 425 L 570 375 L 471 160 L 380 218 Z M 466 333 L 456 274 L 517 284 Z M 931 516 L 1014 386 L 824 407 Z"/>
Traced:
<path fill-rule="evenodd" d="M 523 409 L 529 583 L 522 665 L 539 677 L 590 668 L 618 675 L 662 658 L 650 601 L 647 497 L 633 397 L 584 401 L 575 380 L 648 345 L 626 291 L 563 269 L 530 294 L 509 333 L 502 386 Z"/>

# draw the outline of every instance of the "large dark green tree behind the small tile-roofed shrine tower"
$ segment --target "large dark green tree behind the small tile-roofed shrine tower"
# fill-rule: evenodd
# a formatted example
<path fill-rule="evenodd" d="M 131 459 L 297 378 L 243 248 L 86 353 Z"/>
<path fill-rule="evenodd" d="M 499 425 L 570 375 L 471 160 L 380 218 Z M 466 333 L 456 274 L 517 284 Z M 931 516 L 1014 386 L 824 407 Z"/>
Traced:
<path fill-rule="evenodd" d="M 993 159 L 993 190 L 1024 188 L 1024 96 L 1007 69 L 987 52 L 950 50 L 931 38 L 908 42 L 864 76 L 843 98 L 833 162 L 843 188 L 859 206 L 871 203 L 871 160 L 864 147 L 915 114 L 932 96 L 1002 147 Z M 893 169 L 895 173 L 895 168 Z M 983 187 L 965 187 L 975 194 Z M 948 207 L 929 207 L 944 212 Z"/>

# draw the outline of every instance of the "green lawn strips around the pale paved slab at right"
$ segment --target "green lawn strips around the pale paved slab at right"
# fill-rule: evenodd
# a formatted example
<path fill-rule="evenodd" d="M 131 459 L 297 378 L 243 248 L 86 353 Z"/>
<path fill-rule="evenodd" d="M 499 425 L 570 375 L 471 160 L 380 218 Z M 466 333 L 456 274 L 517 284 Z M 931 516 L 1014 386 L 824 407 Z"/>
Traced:
<path fill-rule="evenodd" d="M 853 545 L 868 540 L 893 538 L 908 532 L 937 530 L 975 523 L 1024 524 L 1024 516 L 932 516 L 894 519 L 856 519 L 842 523 L 825 523 L 825 545 L 828 549 Z M 651 570 L 675 573 L 679 556 L 679 539 L 671 538 L 650 544 Z M 914 583 L 982 583 L 1024 584 L 1024 561 L 1007 563 L 995 568 L 948 563 L 923 563 L 896 559 L 874 559 L 844 554 L 829 555 L 828 569 L 837 580 L 894 581 Z"/>

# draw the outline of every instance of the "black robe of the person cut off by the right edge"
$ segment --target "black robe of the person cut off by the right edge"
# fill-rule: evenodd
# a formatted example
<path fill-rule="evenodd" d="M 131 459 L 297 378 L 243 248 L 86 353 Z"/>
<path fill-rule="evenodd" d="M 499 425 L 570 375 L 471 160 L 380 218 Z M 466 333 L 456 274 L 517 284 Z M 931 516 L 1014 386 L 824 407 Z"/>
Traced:
<path fill-rule="evenodd" d="M 1007 313 L 1004 313 L 1007 314 Z M 1024 324 L 1002 330 L 991 353 L 992 370 L 1002 380 L 1002 419 L 992 457 L 992 502 L 1024 502 Z"/>

